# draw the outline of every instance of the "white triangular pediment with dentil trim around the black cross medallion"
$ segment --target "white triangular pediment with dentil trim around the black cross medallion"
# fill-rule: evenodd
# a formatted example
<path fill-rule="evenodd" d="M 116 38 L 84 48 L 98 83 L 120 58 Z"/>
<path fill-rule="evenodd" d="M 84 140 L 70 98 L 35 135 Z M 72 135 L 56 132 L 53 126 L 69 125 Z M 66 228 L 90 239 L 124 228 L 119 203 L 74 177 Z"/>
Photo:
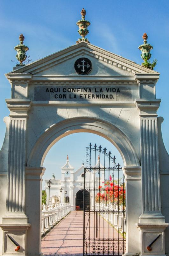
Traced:
<path fill-rule="evenodd" d="M 134 76 L 135 73 L 158 74 L 156 71 L 144 68 L 131 60 L 86 42 L 72 45 L 22 68 L 15 69 L 9 74 L 28 73 L 34 76 L 77 76 L 74 62 L 81 57 L 86 57 L 92 62 L 92 70 L 86 76 Z"/>

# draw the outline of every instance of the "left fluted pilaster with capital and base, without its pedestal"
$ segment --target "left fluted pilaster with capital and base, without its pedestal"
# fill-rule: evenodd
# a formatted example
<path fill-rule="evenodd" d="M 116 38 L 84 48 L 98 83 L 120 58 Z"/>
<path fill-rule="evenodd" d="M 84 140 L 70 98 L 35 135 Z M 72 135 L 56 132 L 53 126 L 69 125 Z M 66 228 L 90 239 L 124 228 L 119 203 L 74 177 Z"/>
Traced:
<path fill-rule="evenodd" d="M 25 215 L 26 119 L 30 100 L 6 100 L 10 109 L 6 214 Z M 9 216 L 10 215 L 10 216 Z M 23 217 L 24 218 L 24 217 Z"/>

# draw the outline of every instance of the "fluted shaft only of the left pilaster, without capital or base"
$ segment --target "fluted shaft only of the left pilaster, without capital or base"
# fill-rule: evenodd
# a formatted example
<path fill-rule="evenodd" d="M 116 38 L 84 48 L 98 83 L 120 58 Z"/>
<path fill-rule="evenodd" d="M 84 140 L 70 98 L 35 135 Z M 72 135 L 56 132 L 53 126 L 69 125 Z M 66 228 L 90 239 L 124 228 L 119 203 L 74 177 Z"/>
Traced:
<path fill-rule="evenodd" d="M 26 118 L 11 118 L 9 137 L 7 212 L 24 212 Z"/>

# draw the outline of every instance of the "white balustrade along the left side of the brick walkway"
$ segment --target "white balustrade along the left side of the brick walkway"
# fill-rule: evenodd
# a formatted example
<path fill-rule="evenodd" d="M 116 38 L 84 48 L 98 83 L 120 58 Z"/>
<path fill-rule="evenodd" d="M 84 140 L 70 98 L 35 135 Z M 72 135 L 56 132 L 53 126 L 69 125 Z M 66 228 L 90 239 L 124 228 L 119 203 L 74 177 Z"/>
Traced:
<path fill-rule="evenodd" d="M 71 204 L 42 205 L 41 235 L 46 234 L 57 222 L 71 212 Z"/>

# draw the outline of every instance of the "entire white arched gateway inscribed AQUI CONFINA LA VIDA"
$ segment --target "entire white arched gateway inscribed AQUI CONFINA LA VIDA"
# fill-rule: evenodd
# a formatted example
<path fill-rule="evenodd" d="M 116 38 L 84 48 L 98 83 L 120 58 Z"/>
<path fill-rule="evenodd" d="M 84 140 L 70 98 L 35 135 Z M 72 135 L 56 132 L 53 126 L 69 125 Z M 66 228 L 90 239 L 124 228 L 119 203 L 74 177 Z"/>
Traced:
<path fill-rule="evenodd" d="M 169 253 L 169 160 L 157 118 L 159 73 L 82 40 L 6 77 L 11 99 L 0 152 L 0 254 L 40 255 L 43 161 L 54 143 L 75 132 L 103 136 L 123 157 L 125 254 Z M 18 252 L 6 234 L 20 245 Z"/>

